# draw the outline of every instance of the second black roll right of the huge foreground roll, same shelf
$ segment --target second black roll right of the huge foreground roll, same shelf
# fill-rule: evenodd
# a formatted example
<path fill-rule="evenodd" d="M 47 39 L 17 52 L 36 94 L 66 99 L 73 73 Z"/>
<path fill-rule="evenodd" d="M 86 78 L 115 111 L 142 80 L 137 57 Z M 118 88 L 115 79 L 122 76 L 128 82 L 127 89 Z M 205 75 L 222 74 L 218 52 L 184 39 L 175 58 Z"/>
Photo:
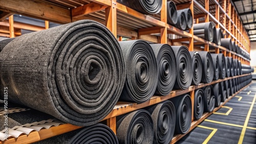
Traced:
<path fill-rule="evenodd" d="M 172 91 L 176 80 L 176 58 L 169 44 L 151 44 L 158 64 L 156 94 L 167 95 Z"/>

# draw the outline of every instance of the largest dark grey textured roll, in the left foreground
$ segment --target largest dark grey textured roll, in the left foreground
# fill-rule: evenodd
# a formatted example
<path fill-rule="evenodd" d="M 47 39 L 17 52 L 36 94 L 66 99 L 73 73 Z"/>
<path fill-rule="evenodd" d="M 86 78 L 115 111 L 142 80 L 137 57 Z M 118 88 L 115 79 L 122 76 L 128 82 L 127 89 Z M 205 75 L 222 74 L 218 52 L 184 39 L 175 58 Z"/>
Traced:
<path fill-rule="evenodd" d="M 117 39 L 93 20 L 16 37 L 4 47 L 0 63 L 9 101 L 78 126 L 108 115 L 125 80 Z"/>

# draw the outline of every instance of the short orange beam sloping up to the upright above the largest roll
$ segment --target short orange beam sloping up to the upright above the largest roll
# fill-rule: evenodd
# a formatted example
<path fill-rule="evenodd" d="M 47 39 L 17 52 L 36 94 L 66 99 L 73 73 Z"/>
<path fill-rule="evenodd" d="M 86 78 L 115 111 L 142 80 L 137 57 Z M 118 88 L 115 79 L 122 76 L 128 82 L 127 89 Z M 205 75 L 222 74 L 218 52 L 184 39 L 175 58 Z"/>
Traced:
<path fill-rule="evenodd" d="M 101 4 L 92 2 L 87 5 L 83 5 L 83 6 L 72 9 L 72 17 L 75 18 L 75 17 L 87 15 L 90 13 L 102 11 L 108 7 L 109 6 L 105 6 L 105 5 L 101 5 Z"/>

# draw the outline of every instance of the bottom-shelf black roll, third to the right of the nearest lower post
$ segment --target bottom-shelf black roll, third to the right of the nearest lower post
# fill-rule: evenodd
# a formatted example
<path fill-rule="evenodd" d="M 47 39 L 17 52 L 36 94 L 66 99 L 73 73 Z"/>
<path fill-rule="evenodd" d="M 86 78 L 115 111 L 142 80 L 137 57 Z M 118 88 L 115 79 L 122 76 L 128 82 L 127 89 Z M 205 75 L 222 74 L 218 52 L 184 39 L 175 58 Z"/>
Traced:
<path fill-rule="evenodd" d="M 175 133 L 185 134 L 191 126 L 191 99 L 190 95 L 184 94 L 170 99 L 176 110 Z"/>

